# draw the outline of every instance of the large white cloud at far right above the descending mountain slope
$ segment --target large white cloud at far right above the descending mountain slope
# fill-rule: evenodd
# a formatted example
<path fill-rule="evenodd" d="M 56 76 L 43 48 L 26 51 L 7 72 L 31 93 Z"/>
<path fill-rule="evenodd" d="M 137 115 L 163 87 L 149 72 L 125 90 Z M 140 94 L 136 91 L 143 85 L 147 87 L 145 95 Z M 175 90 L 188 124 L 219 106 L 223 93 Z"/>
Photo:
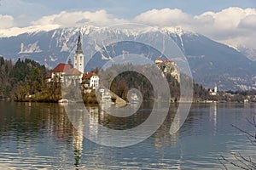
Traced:
<path fill-rule="evenodd" d="M 208 17 L 209 20 L 205 20 Z M 212 19 L 210 19 L 212 18 Z M 210 21 L 211 20 L 211 21 Z M 201 22 L 198 22 L 201 21 Z M 194 17 L 190 30 L 231 46 L 255 48 L 256 10 L 254 8 L 225 8 L 217 13 L 207 12 Z"/>

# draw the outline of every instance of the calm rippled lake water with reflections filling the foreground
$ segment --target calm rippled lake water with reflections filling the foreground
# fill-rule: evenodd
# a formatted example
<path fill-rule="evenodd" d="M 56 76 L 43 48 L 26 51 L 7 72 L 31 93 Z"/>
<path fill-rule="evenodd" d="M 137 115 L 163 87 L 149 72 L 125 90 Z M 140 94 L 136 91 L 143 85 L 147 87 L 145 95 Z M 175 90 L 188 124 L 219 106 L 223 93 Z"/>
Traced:
<path fill-rule="evenodd" d="M 134 122 L 150 114 L 147 107 Z M 170 135 L 176 108 L 171 105 L 166 122 L 150 138 L 115 148 L 83 138 L 63 105 L 0 101 L 0 169 L 220 169 L 218 157 L 234 159 L 230 152 L 255 158 L 255 146 L 231 124 L 253 133 L 247 119 L 255 116 L 256 105 L 193 104 L 183 127 Z M 102 122 L 119 126 L 111 119 Z"/>

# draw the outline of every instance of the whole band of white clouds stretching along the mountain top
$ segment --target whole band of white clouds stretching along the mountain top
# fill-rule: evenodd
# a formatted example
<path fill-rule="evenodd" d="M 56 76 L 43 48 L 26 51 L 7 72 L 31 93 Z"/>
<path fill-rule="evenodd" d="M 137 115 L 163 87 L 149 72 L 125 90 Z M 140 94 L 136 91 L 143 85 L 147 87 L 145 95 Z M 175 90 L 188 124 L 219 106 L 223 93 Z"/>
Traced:
<path fill-rule="evenodd" d="M 22 20 L 21 20 L 22 19 Z M 21 21 L 20 21 L 21 20 Z M 29 21 L 30 26 L 21 26 L 22 21 Z M 218 12 L 207 11 L 193 15 L 184 13 L 178 8 L 151 9 L 138 14 L 131 20 L 109 14 L 106 10 L 62 11 L 58 14 L 46 15 L 38 20 L 26 15 L 13 17 L 0 14 L 0 37 L 15 36 L 26 31 L 49 31 L 70 26 L 111 26 L 127 22 L 136 22 L 150 26 L 177 26 L 187 31 L 201 33 L 218 42 L 231 46 L 247 46 L 255 48 L 256 44 L 256 9 L 224 8 Z M 3 23 L 3 24 L 2 24 Z M 19 27 L 20 26 L 20 27 Z"/>

